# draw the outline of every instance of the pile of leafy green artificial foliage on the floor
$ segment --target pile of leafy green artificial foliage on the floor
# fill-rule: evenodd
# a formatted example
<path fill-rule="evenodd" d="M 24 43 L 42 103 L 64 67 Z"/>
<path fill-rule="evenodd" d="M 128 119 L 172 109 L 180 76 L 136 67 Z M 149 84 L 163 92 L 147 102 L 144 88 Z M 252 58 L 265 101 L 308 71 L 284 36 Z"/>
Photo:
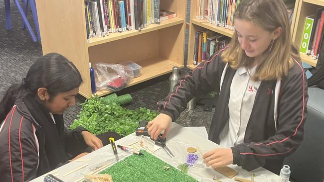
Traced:
<path fill-rule="evenodd" d="M 71 129 L 82 126 L 98 135 L 107 131 L 115 131 L 122 136 L 135 132 L 139 121 L 151 121 L 158 113 L 147 108 L 126 109 L 115 102 L 104 102 L 103 98 L 93 96 L 81 103 L 82 108 L 77 119 L 70 125 Z"/>

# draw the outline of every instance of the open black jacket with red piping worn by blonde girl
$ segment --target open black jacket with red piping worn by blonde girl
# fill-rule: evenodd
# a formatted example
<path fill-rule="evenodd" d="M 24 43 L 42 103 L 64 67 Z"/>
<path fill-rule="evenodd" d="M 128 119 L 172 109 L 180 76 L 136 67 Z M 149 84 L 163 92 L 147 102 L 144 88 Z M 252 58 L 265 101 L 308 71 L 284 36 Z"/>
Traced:
<path fill-rule="evenodd" d="M 231 82 L 236 70 L 222 61 L 221 52 L 199 64 L 158 102 L 160 113 L 174 121 L 193 97 L 219 91 L 209 140 L 219 144 L 219 135 L 228 122 Z M 250 171 L 264 167 L 279 173 L 283 160 L 303 141 L 307 116 L 307 79 L 300 63 L 280 80 L 262 81 L 246 128 L 244 143 L 233 146 L 233 164 Z"/>

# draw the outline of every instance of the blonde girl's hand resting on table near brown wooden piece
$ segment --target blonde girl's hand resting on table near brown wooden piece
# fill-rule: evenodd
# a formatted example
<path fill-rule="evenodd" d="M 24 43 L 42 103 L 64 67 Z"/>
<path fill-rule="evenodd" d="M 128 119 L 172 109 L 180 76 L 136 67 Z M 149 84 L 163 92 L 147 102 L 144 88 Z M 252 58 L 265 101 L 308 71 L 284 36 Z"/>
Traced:
<path fill-rule="evenodd" d="M 212 168 L 233 164 L 232 149 L 216 148 L 206 152 L 202 158 L 206 166 Z"/>

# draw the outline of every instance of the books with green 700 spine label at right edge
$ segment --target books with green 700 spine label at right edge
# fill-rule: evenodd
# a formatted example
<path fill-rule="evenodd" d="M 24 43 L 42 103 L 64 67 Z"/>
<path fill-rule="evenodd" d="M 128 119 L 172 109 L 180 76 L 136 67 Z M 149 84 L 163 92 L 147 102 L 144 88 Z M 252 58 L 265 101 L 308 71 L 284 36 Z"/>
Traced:
<path fill-rule="evenodd" d="M 318 59 L 324 40 L 324 7 L 316 9 L 315 14 L 305 19 L 300 52 Z"/>

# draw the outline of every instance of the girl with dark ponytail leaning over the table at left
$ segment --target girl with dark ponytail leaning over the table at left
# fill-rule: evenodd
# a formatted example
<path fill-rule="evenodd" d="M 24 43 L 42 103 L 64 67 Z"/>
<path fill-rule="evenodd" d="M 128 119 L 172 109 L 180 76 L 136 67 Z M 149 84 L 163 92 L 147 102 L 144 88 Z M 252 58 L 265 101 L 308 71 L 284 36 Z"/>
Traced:
<path fill-rule="evenodd" d="M 50 53 L 30 67 L 21 84 L 8 88 L 0 102 L 1 181 L 30 181 L 84 156 L 79 153 L 87 146 L 103 146 L 86 129 L 64 126 L 62 114 L 75 104 L 81 83 L 72 62 Z"/>

